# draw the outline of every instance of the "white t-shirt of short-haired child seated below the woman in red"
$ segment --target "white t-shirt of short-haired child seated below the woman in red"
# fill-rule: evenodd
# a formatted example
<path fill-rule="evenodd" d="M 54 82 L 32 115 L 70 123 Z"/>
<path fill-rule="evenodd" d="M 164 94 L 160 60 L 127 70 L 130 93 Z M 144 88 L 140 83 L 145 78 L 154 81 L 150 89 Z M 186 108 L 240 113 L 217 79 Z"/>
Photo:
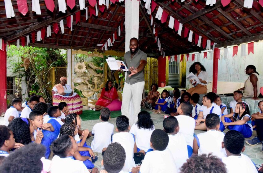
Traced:
<path fill-rule="evenodd" d="M 101 153 L 103 148 L 108 147 L 111 143 L 114 125 L 109 122 L 100 122 L 93 126 L 92 134 L 94 134 L 91 148 L 93 151 Z"/>

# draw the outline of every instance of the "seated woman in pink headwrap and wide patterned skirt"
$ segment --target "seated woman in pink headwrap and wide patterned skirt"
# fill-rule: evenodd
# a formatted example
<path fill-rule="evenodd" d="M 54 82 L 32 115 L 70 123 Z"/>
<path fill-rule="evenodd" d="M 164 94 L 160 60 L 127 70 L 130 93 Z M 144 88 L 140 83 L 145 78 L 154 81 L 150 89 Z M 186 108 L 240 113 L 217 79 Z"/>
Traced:
<path fill-rule="evenodd" d="M 65 90 L 71 90 L 71 94 L 65 93 Z M 53 105 L 58 106 L 60 102 L 66 102 L 69 108 L 69 113 L 82 114 L 82 101 L 80 96 L 72 91 L 72 88 L 67 85 L 67 78 L 61 77 L 60 83 L 52 89 L 55 92 L 53 96 Z"/>

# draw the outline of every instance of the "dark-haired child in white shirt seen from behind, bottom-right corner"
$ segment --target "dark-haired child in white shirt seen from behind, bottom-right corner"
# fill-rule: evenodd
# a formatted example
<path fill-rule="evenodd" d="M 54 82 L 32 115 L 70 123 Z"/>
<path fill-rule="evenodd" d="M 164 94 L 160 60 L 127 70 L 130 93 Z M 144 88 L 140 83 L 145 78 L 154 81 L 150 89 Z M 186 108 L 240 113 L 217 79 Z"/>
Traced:
<path fill-rule="evenodd" d="M 227 157 L 222 158 L 222 162 L 226 164 L 228 173 L 257 173 L 257 168 L 250 158 L 241 152 L 244 152 L 244 136 L 236 131 L 230 130 L 226 132 L 222 148 L 225 148 Z"/>

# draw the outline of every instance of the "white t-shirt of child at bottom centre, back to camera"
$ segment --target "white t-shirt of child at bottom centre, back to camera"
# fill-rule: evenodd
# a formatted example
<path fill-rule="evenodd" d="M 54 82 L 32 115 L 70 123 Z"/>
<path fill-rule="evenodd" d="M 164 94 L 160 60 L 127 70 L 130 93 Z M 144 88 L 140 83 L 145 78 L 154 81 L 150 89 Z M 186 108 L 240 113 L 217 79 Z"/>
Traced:
<path fill-rule="evenodd" d="M 146 153 L 140 167 L 140 173 L 177 173 L 174 158 L 170 150 L 151 151 Z"/>

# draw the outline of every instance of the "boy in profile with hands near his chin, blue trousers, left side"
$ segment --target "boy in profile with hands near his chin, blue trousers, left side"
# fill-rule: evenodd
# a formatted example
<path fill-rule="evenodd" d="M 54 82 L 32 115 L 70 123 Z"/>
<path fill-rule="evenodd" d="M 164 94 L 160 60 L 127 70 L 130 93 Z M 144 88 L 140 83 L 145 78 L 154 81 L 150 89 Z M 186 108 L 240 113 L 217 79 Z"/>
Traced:
<path fill-rule="evenodd" d="M 45 123 L 43 124 L 43 114 L 40 111 L 32 111 L 29 114 L 29 118 L 32 121 L 32 124 L 35 128 L 35 131 L 33 133 L 34 138 L 36 139 L 37 137 L 37 132 L 42 131 L 43 133 L 43 138 L 41 140 L 41 144 L 45 146 L 46 148 L 46 153 L 45 153 L 45 158 L 48 159 L 50 155 L 50 145 L 54 140 L 57 139 L 57 135 L 53 133 L 54 128 L 52 124 L 50 123 Z M 43 130 L 41 130 L 43 129 Z"/>

